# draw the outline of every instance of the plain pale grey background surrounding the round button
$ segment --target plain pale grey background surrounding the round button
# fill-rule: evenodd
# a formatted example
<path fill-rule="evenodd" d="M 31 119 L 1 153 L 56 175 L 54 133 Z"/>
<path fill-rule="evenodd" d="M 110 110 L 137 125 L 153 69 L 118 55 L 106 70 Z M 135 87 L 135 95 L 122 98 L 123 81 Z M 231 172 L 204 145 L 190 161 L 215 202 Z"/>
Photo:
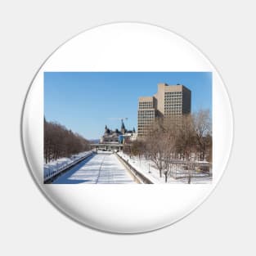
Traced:
<path fill-rule="evenodd" d="M 20 146 L 21 109 L 38 67 L 83 29 L 123 20 L 163 26 L 199 47 L 222 74 L 235 114 L 230 163 L 209 199 L 171 227 L 132 236 L 94 231 L 58 212 L 35 186 Z M 253 1 L 2 2 L 1 254 L 255 254 L 255 22 Z"/>

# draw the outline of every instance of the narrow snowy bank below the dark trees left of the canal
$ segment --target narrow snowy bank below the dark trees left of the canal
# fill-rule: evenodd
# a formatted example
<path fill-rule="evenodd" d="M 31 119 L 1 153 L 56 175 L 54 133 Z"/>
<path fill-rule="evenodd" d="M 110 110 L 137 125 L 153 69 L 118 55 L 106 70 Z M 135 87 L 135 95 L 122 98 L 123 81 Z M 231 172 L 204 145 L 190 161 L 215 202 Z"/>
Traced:
<path fill-rule="evenodd" d="M 55 161 L 51 161 L 50 163 L 43 165 L 43 178 L 44 180 L 56 175 L 56 173 L 60 173 L 65 168 L 68 168 L 70 165 L 78 162 L 79 159 L 87 155 L 92 155 L 92 151 L 81 152 L 77 155 L 72 155 L 69 157 L 63 157 L 61 159 L 57 159 Z"/>

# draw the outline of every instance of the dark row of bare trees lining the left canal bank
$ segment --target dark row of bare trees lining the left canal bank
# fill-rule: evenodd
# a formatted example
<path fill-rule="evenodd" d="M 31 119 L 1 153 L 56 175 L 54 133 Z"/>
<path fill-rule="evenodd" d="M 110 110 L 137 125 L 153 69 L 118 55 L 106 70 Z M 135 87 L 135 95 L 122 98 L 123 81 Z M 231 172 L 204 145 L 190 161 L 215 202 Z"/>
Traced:
<path fill-rule="evenodd" d="M 52 160 L 61 157 L 70 157 L 70 155 L 77 154 L 89 150 L 89 142 L 65 126 L 55 123 L 47 122 L 44 119 L 44 160 L 47 164 Z"/>

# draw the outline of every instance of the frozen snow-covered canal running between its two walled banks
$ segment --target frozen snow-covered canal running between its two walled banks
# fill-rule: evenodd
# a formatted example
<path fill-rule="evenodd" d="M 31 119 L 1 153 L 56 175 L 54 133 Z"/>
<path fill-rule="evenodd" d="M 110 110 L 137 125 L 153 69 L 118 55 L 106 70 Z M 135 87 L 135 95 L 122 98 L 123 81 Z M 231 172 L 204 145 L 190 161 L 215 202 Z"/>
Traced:
<path fill-rule="evenodd" d="M 127 184 L 135 182 L 114 154 L 95 154 L 57 177 L 53 183 Z"/>

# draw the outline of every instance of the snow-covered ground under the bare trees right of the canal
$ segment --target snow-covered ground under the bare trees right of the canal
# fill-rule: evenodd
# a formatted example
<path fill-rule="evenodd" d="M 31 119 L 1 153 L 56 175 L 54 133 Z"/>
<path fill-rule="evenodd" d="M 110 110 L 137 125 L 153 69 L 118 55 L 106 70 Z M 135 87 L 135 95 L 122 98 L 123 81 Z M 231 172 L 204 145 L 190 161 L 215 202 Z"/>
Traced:
<path fill-rule="evenodd" d="M 184 173 L 179 172 L 177 169 L 177 175 L 180 175 L 178 179 L 173 177 L 168 177 L 167 183 L 165 183 L 164 173 L 162 177 L 159 177 L 159 170 L 156 168 L 155 164 L 149 159 L 139 159 L 138 157 L 132 156 L 130 158 L 123 152 L 118 153 L 123 159 L 128 161 L 137 172 L 143 174 L 145 177 L 150 179 L 151 182 L 155 184 L 184 184 L 188 182 L 187 177 L 184 177 Z M 212 182 L 212 177 L 206 177 L 204 174 L 198 173 L 196 177 L 191 177 L 191 184 L 209 184 Z"/>

